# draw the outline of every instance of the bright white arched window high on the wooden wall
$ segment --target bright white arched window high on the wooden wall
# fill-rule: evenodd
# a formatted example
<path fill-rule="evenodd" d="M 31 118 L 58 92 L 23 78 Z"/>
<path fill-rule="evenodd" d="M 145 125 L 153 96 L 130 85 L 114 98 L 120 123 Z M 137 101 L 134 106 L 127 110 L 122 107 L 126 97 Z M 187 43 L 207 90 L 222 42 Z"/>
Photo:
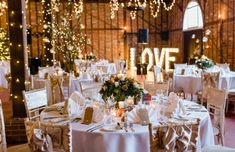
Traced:
<path fill-rule="evenodd" d="M 185 13 L 183 21 L 183 31 L 202 29 L 203 28 L 203 18 L 202 10 L 196 1 L 189 2 Z"/>

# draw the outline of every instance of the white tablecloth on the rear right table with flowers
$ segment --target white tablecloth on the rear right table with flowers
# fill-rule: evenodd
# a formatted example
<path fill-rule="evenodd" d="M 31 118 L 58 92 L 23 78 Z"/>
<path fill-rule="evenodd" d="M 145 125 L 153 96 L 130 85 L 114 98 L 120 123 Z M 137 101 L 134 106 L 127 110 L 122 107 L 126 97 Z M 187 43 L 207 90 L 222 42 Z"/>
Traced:
<path fill-rule="evenodd" d="M 201 76 L 195 75 L 174 75 L 174 88 L 183 88 L 185 93 L 196 94 L 202 90 Z M 219 88 L 235 88 L 235 72 L 230 72 L 220 76 Z"/>

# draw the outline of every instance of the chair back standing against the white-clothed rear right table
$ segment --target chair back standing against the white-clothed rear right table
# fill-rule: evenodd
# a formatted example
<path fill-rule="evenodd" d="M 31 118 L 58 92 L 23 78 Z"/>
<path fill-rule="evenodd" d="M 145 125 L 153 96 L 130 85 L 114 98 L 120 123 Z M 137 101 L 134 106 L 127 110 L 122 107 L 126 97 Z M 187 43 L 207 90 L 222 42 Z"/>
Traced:
<path fill-rule="evenodd" d="M 220 72 L 202 73 L 202 97 L 207 98 L 209 88 L 219 87 Z"/>

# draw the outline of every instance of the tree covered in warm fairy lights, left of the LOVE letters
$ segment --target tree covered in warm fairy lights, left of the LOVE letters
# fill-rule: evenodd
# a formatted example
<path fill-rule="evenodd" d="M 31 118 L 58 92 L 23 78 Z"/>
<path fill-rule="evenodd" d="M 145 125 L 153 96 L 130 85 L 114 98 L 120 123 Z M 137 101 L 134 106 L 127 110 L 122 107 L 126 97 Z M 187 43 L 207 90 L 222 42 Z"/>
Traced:
<path fill-rule="evenodd" d="M 54 14 L 52 22 L 52 44 L 53 53 L 59 52 L 63 55 L 63 63 L 67 71 L 73 70 L 74 60 L 81 58 L 82 51 L 85 48 L 85 34 L 82 32 L 83 25 L 81 24 L 81 13 L 83 3 L 80 0 L 68 1 L 64 14 L 56 19 L 55 13 L 59 11 L 58 2 L 53 4 Z M 57 8 L 57 9 L 56 9 Z M 77 23 L 72 25 L 72 17 L 76 15 Z"/>

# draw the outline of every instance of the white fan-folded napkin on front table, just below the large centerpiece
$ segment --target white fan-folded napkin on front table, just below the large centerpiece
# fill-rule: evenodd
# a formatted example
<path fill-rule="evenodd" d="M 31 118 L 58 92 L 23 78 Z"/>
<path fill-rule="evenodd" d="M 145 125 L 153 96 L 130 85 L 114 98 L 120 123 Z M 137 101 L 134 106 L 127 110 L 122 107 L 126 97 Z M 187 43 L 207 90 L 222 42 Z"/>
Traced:
<path fill-rule="evenodd" d="M 146 115 L 146 112 L 148 115 Z M 127 119 L 129 122 L 133 123 L 142 123 L 143 121 L 156 123 L 157 112 L 150 105 L 141 104 L 137 105 L 132 111 L 127 113 Z"/>

